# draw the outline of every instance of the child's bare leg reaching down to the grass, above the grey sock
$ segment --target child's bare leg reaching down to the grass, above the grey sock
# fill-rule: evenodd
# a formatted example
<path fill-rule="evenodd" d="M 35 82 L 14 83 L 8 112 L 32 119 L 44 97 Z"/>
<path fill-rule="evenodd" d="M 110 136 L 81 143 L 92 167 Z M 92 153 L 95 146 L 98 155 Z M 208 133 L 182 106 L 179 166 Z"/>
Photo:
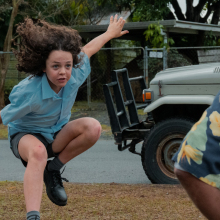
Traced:
<path fill-rule="evenodd" d="M 18 151 L 28 162 L 24 174 L 24 196 L 27 212 L 40 210 L 43 192 L 43 173 L 47 163 L 45 146 L 36 137 L 25 135 L 21 138 Z"/>

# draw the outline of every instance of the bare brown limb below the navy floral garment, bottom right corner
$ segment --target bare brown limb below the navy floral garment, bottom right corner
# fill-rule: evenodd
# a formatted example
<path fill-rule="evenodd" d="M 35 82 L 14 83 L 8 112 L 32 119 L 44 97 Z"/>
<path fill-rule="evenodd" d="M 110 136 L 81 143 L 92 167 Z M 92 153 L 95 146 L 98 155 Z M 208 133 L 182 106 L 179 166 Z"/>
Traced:
<path fill-rule="evenodd" d="M 209 220 L 220 219 L 220 190 L 197 179 L 192 174 L 174 170 L 181 185 L 197 208 Z"/>

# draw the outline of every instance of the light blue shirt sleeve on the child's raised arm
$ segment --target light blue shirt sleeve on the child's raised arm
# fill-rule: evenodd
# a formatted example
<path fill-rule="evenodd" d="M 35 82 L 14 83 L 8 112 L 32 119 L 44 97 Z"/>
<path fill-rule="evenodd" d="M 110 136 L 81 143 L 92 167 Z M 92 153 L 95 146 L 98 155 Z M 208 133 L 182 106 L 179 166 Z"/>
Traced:
<path fill-rule="evenodd" d="M 83 52 L 80 53 L 80 56 L 83 56 L 82 64 L 79 68 L 72 69 L 72 76 L 77 81 L 79 86 L 83 84 L 83 82 L 86 80 L 91 72 L 91 66 L 88 56 Z"/>

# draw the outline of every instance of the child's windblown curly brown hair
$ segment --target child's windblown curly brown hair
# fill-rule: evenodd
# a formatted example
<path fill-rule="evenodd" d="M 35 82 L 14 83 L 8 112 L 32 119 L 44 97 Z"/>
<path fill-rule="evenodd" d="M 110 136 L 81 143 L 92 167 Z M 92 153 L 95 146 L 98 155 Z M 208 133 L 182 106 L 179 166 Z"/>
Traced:
<path fill-rule="evenodd" d="M 23 23 L 19 23 L 16 32 L 21 37 L 20 50 L 13 50 L 18 60 L 18 71 L 33 76 L 42 75 L 46 60 L 53 50 L 70 52 L 74 68 L 79 67 L 82 61 L 82 56 L 79 56 L 81 37 L 74 29 L 26 18 Z"/>

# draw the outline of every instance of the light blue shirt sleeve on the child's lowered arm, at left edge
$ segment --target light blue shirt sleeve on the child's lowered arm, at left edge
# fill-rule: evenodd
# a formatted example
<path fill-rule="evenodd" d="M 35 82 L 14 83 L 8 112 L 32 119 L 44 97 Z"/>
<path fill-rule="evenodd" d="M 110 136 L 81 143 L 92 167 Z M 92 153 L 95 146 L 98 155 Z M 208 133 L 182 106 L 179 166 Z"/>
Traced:
<path fill-rule="evenodd" d="M 15 86 L 9 96 L 10 104 L 1 110 L 2 123 L 7 125 L 31 112 L 32 94 L 25 89 Z"/>

